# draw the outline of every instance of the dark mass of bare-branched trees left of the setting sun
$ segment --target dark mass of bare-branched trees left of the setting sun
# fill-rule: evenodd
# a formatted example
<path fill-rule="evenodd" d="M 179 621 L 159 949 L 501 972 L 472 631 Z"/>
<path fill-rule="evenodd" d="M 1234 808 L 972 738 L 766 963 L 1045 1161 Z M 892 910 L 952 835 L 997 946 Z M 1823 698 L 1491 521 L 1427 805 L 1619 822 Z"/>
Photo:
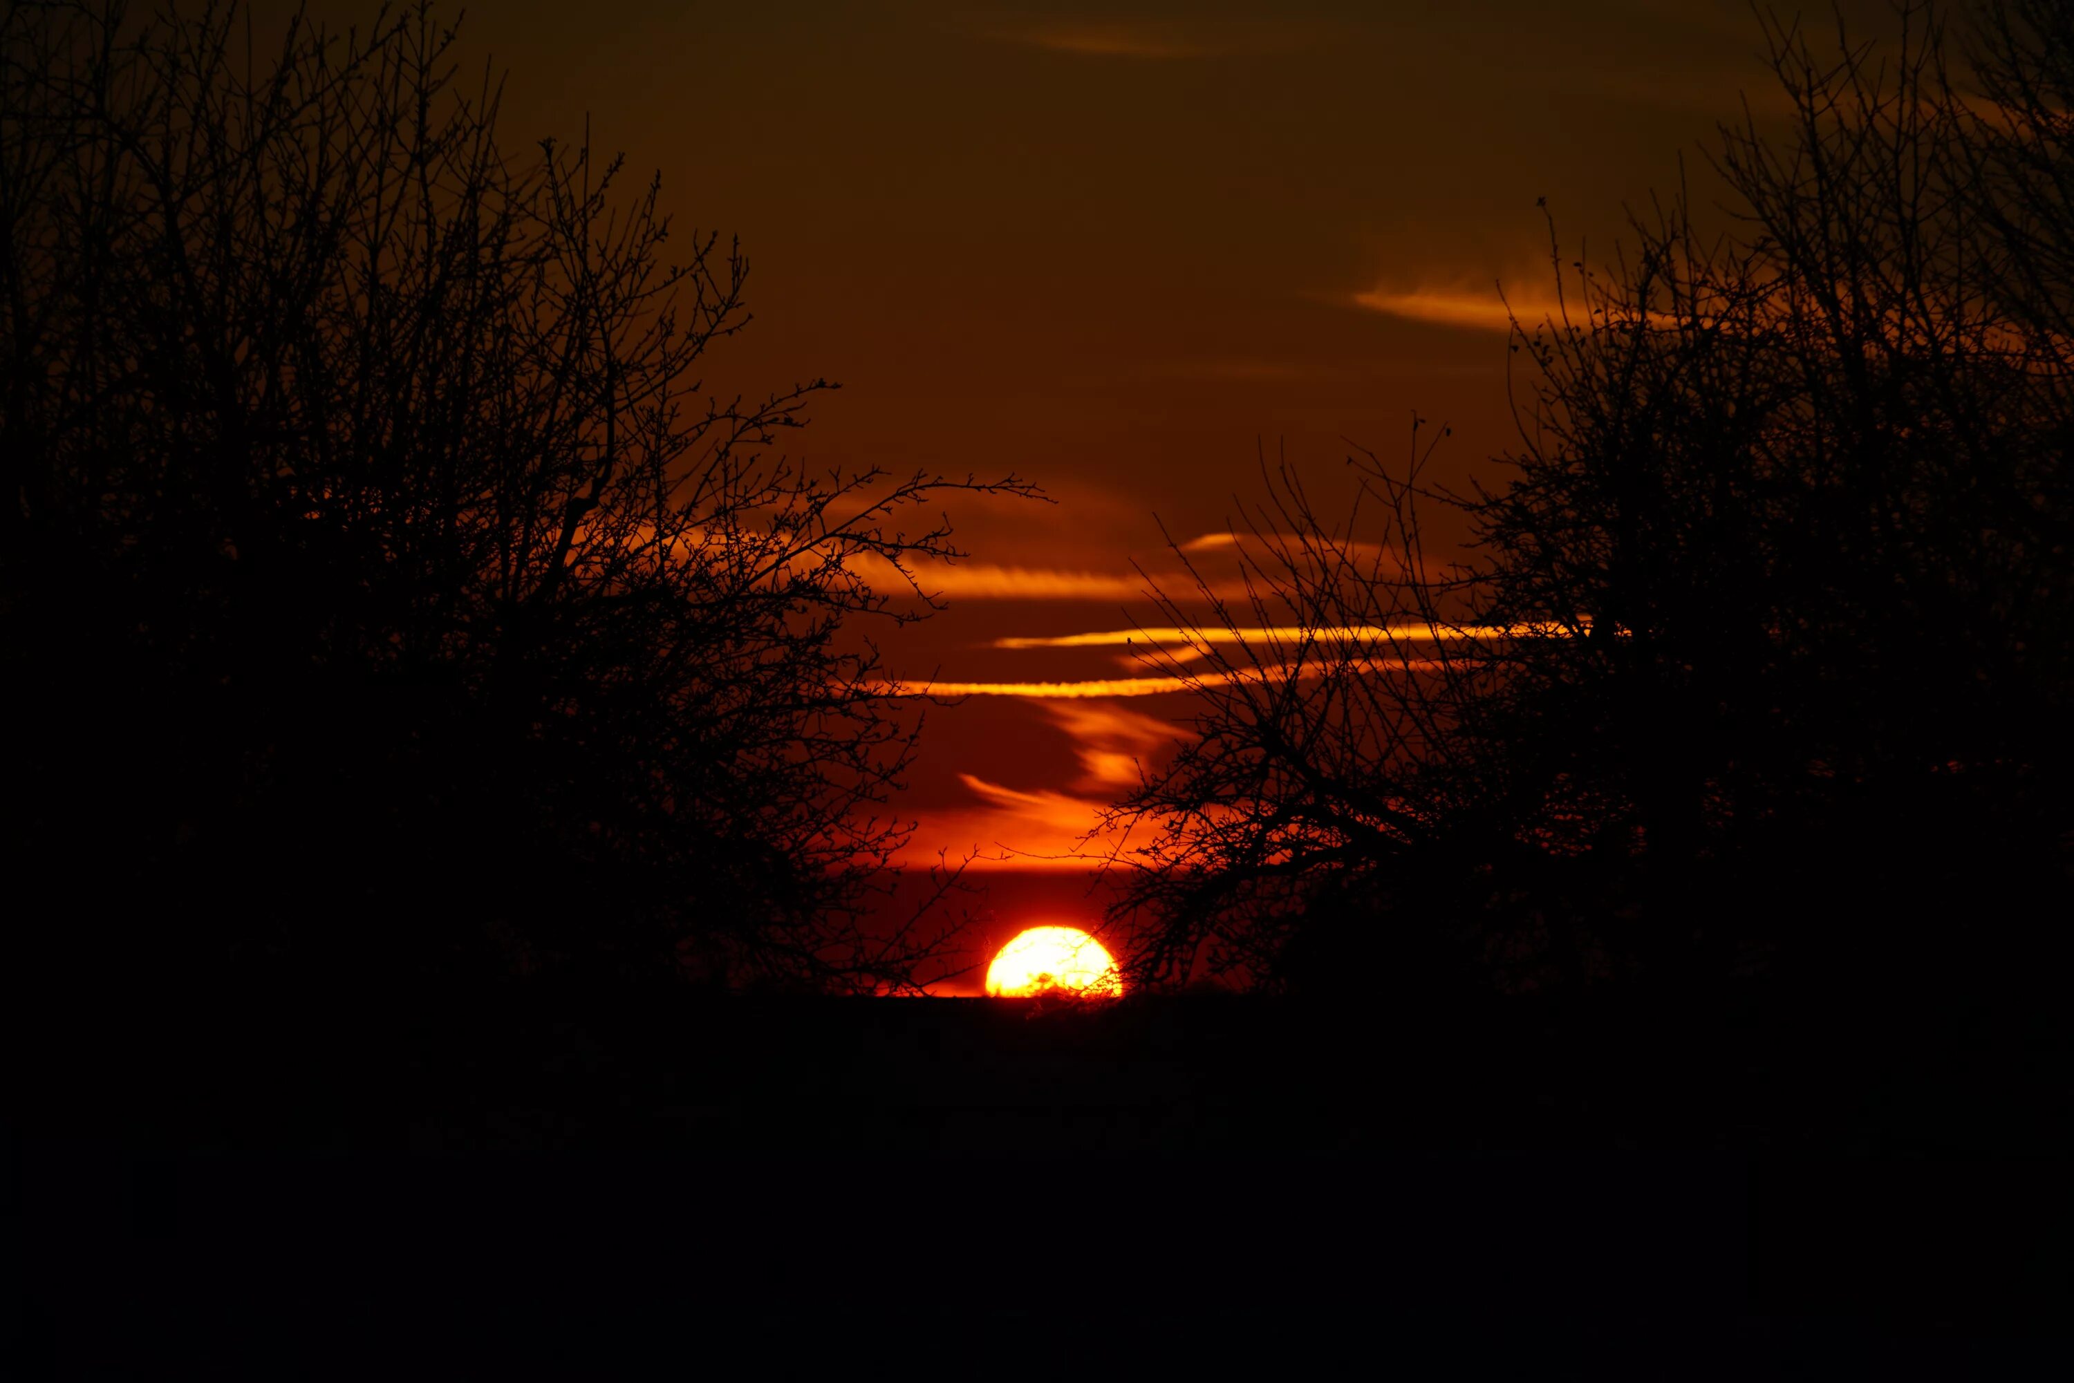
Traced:
<path fill-rule="evenodd" d="M 1025 487 L 776 456 L 828 386 L 693 373 L 740 253 L 508 153 L 429 6 L 0 23 L 17 954 L 906 983 L 931 937 L 861 916 L 917 726 L 857 622 L 929 603 L 859 564 Z"/>

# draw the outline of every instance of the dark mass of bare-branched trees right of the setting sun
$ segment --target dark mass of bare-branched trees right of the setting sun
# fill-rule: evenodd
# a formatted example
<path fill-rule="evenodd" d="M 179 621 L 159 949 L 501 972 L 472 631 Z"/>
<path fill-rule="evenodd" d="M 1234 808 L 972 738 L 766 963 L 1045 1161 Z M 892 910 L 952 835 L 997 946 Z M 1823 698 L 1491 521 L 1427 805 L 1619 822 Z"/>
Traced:
<path fill-rule="evenodd" d="M 1765 29 L 1726 234 L 1680 195 L 1553 257 L 1487 487 L 1431 427 L 1346 518 L 1269 473 L 1215 620 L 1313 632 L 1174 664 L 1234 676 L 1120 809 L 1145 979 L 2062 975 L 2074 10 L 1898 19 Z"/>

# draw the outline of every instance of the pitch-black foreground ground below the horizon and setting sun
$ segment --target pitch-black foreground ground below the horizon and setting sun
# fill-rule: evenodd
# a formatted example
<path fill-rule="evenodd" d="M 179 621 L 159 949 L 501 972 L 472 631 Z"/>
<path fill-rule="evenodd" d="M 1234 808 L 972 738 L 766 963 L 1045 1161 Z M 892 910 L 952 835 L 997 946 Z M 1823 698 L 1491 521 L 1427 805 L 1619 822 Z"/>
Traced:
<path fill-rule="evenodd" d="M 17 1377 L 2033 1377 L 2068 1024 L 1773 989 L 172 1001 L 17 1039 Z"/>

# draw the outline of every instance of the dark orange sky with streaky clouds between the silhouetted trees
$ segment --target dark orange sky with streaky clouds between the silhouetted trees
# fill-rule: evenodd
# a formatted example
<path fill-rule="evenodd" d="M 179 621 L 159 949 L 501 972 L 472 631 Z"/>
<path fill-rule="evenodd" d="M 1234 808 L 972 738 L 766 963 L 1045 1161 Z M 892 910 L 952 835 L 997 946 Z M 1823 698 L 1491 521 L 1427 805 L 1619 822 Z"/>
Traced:
<path fill-rule="evenodd" d="M 1450 475 L 1485 464 L 1512 438 L 1495 284 L 1547 299 L 1537 197 L 1599 257 L 1738 91 L 1775 108 L 1744 0 L 496 0 L 465 35 L 510 68 L 512 147 L 589 116 L 680 224 L 740 234 L 757 321 L 709 382 L 840 382 L 807 460 L 1058 500 L 952 510 L 975 562 L 890 645 L 946 682 L 1132 676 L 1110 645 L 1004 641 L 1168 622 L 1132 564 L 1176 568 L 1159 523 L 1215 556 L 1261 448 L 1329 496 L 1348 442 L 1402 454 L 1417 411 L 1454 425 Z M 915 854 L 1000 856 L 1000 927 L 1089 921 L 1016 852 L 1064 850 L 1184 713 L 933 711 Z"/>

